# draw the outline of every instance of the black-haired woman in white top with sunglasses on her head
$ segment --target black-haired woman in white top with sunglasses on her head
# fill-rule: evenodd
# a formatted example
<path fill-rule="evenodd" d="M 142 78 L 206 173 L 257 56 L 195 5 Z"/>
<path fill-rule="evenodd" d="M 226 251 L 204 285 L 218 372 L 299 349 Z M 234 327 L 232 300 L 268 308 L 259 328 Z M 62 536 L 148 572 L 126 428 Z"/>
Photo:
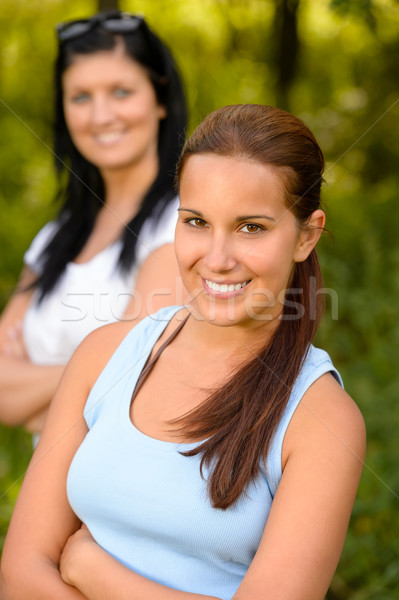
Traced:
<path fill-rule="evenodd" d="M 57 34 L 62 206 L 26 252 L 0 322 L 0 421 L 33 432 L 88 333 L 181 294 L 174 171 L 186 106 L 173 58 L 142 17 L 119 11 L 63 23 Z"/>

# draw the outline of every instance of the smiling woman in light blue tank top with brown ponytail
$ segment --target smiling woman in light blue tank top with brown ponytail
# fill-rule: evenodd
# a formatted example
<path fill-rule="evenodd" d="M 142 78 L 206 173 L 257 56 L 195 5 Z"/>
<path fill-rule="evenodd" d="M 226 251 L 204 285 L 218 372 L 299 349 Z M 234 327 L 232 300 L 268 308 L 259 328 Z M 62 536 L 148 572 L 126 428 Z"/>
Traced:
<path fill-rule="evenodd" d="M 313 134 L 270 106 L 222 108 L 187 141 L 191 301 L 77 349 L 11 521 L 5 600 L 324 598 L 365 432 L 312 345 L 322 172 Z"/>

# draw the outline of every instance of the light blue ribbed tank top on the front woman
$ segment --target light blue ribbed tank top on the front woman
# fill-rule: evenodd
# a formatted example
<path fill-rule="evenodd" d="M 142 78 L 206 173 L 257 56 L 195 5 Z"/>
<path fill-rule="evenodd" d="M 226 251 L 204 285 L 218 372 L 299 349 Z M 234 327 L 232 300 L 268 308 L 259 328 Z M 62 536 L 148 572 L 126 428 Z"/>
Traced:
<path fill-rule="evenodd" d="M 141 321 L 98 377 L 85 406 L 89 432 L 68 474 L 72 509 L 107 552 L 137 573 L 174 589 L 230 600 L 258 548 L 282 475 L 285 431 L 305 391 L 331 371 L 313 346 L 276 430 L 266 469 L 227 510 L 212 508 L 207 470 L 178 444 L 141 433 L 129 417 L 136 381 L 152 348 L 181 307 Z"/>

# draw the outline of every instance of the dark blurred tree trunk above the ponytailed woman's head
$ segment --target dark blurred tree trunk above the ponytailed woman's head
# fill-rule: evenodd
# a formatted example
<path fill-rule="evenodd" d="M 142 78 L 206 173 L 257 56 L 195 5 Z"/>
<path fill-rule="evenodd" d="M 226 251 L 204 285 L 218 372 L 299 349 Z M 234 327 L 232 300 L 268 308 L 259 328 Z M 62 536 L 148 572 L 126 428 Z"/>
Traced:
<path fill-rule="evenodd" d="M 289 92 L 295 78 L 299 40 L 297 12 L 300 0 L 276 0 L 274 31 L 276 35 L 276 104 L 289 110 Z"/>

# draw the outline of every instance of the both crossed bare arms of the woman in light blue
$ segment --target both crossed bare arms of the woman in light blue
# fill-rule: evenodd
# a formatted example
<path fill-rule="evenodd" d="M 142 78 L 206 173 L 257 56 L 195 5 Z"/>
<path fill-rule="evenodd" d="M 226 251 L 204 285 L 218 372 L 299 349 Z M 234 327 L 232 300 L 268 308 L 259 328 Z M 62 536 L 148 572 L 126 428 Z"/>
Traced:
<path fill-rule="evenodd" d="M 78 348 L 52 403 L 6 539 L 4 600 L 218 600 L 174 590 L 100 548 L 69 507 L 65 482 L 87 430 L 83 407 L 127 332 L 118 323 Z M 330 375 L 315 382 L 288 428 L 284 472 L 259 549 L 234 600 L 322 600 L 345 539 L 364 456 L 364 424 Z"/>

